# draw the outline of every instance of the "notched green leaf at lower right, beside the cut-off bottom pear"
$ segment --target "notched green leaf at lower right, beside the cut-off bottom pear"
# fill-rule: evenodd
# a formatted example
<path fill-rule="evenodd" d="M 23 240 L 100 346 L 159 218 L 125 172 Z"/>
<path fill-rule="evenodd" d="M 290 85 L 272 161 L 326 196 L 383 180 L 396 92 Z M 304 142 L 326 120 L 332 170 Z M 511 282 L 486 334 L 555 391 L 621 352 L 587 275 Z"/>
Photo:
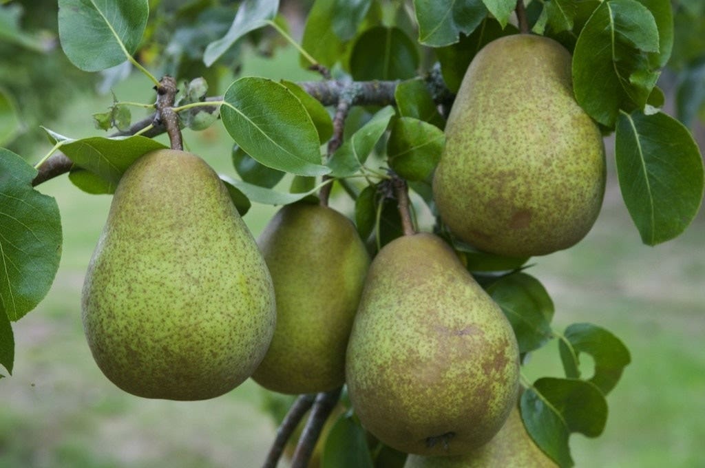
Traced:
<path fill-rule="evenodd" d="M 522 393 L 522 420 L 541 450 L 560 467 L 572 467 L 568 438 L 580 432 L 599 436 L 607 421 L 607 402 L 592 383 L 570 378 L 539 378 Z"/>

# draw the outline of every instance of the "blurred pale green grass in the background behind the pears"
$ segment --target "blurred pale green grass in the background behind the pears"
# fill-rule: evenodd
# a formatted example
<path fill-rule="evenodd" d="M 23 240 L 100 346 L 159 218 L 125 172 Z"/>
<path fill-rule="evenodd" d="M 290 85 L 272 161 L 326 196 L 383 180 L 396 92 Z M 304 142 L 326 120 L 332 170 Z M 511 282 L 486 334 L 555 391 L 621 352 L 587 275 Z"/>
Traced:
<path fill-rule="evenodd" d="M 274 62 L 247 61 L 245 74 L 312 77 L 293 54 Z M 139 77 L 116 94 L 152 100 L 149 82 Z M 72 137 L 99 134 L 90 130 L 90 114 L 109 102 L 85 94 L 51 128 Z M 185 140 L 216 170 L 234 175 L 231 140 L 220 125 L 187 132 Z M 48 148 L 37 144 L 36 154 L 25 156 L 37 161 Z M 104 378 L 83 338 L 80 289 L 110 197 L 84 194 L 66 177 L 39 189 L 59 202 L 63 257 L 47 298 L 13 324 L 15 371 L 0 381 L 0 468 L 259 466 L 276 428 L 252 381 L 214 400 L 184 403 L 136 398 Z M 255 205 L 245 221 L 257 235 L 274 211 Z M 642 245 L 611 166 L 603 211 L 587 238 L 532 260 L 529 273 L 556 304 L 557 329 L 589 321 L 613 331 L 632 352 L 608 396 L 603 436 L 571 438 L 577 467 L 705 467 L 704 241 L 701 213 L 680 238 Z M 537 352 L 525 373 L 561 376 L 556 343 Z"/>

